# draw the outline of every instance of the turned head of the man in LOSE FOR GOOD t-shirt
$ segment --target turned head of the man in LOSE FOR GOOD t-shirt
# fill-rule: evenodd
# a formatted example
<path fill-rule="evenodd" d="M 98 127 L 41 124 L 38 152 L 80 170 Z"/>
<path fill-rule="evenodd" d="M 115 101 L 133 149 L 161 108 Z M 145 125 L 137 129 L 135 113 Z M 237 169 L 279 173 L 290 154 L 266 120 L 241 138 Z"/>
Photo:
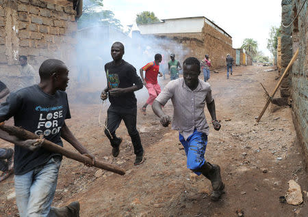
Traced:
<path fill-rule="evenodd" d="M 65 91 L 68 84 L 68 68 L 59 59 L 47 59 L 43 61 L 38 70 L 40 81 L 51 83 L 55 90 Z"/>

